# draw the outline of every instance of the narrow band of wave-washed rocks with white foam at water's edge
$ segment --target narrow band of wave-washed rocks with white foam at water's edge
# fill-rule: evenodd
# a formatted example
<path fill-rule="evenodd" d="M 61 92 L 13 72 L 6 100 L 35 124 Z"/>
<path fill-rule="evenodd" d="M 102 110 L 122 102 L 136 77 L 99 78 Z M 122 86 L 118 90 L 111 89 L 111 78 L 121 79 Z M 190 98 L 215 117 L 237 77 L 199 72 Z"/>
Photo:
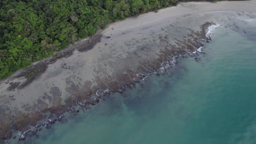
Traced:
<path fill-rule="evenodd" d="M 205 34 L 205 38 L 201 39 L 202 43 L 209 43 L 210 42 L 210 40 L 211 40 L 211 38 L 210 38 L 211 31 L 214 30 L 214 29 L 210 29 L 210 27 L 212 27 L 212 26 L 216 26 L 216 24 L 209 22 L 209 23 L 205 23 L 203 26 L 201 26 L 202 29 L 203 29 L 202 32 L 203 32 L 203 34 Z M 218 27 L 218 26 L 216 26 L 216 27 Z M 209 34 L 209 32 L 210 32 L 210 34 Z M 204 53 L 202 51 L 202 47 L 203 47 L 203 44 L 196 51 L 198 51 L 199 53 Z M 116 92 L 119 92 L 119 93 L 122 94 L 125 91 L 126 88 L 132 88 L 132 86 L 134 86 L 135 83 L 140 83 L 141 81 L 144 81 L 150 75 L 156 75 L 156 76 L 164 75 L 166 73 L 167 69 L 170 69 L 175 64 L 177 64 L 177 59 L 178 58 L 182 58 L 182 57 L 186 57 L 187 58 L 188 56 L 195 57 L 195 55 L 192 55 L 191 53 L 186 53 L 186 55 L 187 56 L 181 56 L 180 53 L 177 53 L 177 56 L 172 56 L 171 59 L 163 61 L 162 64 L 161 64 L 161 67 L 159 67 L 155 71 L 148 71 L 148 74 L 145 74 L 145 73 L 144 74 L 142 74 L 142 73 L 135 74 L 136 78 L 132 79 L 132 81 L 130 82 L 130 85 L 129 86 L 125 85 L 123 88 L 118 89 L 118 91 L 110 91 L 109 89 L 105 89 L 104 91 L 102 91 L 101 89 L 98 89 L 96 91 L 96 93 L 95 93 L 96 97 L 94 97 L 94 99 L 92 100 L 92 103 L 85 103 L 85 104 L 83 104 L 83 103 L 77 102 L 74 105 L 69 105 L 67 107 L 67 110 L 65 112 L 61 113 L 60 116 L 47 119 L 46 121 L 43 121 L 43 122 L 38 122 L 36 125 L 34 125 L 34 126 L 32 125 L 32 127 L 30 127 L 30 129 L 28 129 L 28 130 L 26 130 L 24 132 L 20 132 L 19 133 L 19 135 L 20 135 L 19 140 L 26 140 L 26 136 L 27 135 L 30 135 L 30 136 L 35 135 L 38 130 L 39 131 L 42 130 L 42 128 L 40 128 L 41 125 L 44 126 L 46 129 L 50 129 L 51 125 L 55 124 L 55 122 L 62 122 L 62 119 L 65 118 L 65 116 L 63 114 L 66 113 L 66 112 L 78 113 L 80 108 L 82 110 L 83 110 L 83 108 L 85 108 L 85 110 L 86 110 L 88 106 L 95 105 L 95 104 L 99 103 L 99 100 L 102 97 L 107 97 L 108 95 L 116 93 Z M 196 57 L 195 57 L 195 59 L 196 59 Z M 197 61 L 197 59 L 196 59 L 196 61 Z M 143 72 L 146 72 L 146 71 L 143 71 Z"/>

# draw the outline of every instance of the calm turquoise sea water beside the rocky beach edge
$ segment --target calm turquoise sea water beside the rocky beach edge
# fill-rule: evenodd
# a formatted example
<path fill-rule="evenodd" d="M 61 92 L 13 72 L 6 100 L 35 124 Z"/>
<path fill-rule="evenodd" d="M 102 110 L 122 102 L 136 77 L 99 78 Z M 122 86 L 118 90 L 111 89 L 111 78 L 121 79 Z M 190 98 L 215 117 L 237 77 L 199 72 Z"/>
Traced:
<path fill-rule="evenodd" d="M 256 143 L 256 41 L 245 36 L 219 27 L 199 62 L 180 58 L 167 74 L 23 142 Z"/>

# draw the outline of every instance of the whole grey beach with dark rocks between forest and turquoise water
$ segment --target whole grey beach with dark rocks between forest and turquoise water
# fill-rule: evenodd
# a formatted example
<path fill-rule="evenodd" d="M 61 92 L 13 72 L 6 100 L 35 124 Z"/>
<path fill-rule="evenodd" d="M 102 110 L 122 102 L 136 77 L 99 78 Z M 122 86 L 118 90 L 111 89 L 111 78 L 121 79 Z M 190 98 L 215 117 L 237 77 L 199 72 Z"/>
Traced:
<path fill-rule="evenodd" d="M 96 104 L 102 94 L 121 93 L 148 74 L 161 73 L 163 66 L 171 67 L 176 56 L 196 57 L 196 50 L 210 39 L 209 26 L 243 31 L 239 26 L 255 20 L 255 8 L 256 1 L 181 3 L 109 25 L 101 40 L 89 45 L 92 49 L 76 49 L 0 81 L 0 136 L 8 139 L 10 129 L 26 131 L 53 113 L 61 116 L 68 106 Z M 28 82 L 38 71 L 37 79 Z"/>

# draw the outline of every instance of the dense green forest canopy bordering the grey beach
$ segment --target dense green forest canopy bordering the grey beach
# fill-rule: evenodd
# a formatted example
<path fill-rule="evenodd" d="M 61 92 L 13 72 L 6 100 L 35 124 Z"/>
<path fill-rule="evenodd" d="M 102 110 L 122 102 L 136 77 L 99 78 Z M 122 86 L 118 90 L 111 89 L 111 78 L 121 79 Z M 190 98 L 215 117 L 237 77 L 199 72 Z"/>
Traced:
<path fill-rule="evenodd" d="M 177 0 L 1 0 L 0 78 L 95 34 L 109 22 L 177 3 Z"/>

